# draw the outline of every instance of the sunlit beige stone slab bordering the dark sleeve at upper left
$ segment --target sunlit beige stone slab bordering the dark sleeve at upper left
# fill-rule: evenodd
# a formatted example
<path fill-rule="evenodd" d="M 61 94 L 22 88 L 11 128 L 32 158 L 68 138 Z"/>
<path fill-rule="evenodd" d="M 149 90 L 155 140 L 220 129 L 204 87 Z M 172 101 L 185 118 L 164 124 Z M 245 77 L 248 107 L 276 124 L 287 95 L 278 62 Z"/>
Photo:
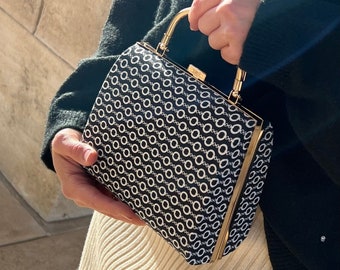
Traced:
<path fill-rule="evenodd" d="M 45 0 L 36 36 L 76 66 L 98 45 L 111 1 Z"/>

